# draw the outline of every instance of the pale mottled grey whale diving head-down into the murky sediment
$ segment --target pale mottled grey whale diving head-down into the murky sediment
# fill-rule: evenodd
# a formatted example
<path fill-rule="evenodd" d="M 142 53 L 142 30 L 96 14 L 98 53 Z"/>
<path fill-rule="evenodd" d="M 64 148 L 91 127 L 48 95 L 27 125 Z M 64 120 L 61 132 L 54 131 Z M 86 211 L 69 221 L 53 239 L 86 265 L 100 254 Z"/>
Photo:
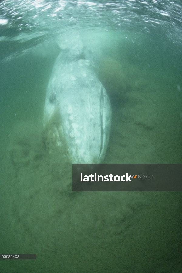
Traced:
<path fill-rule="evenodd" d="M 63 50 L 57 57 L 48 83 L 44 126 L 59 111 L 55 124 L 57 145 L 63 134 L 72 163 L 100 163 L 109 141 L 111 106 L 105 88 L 94 72 L 93 61 L 83 54 Z"/>

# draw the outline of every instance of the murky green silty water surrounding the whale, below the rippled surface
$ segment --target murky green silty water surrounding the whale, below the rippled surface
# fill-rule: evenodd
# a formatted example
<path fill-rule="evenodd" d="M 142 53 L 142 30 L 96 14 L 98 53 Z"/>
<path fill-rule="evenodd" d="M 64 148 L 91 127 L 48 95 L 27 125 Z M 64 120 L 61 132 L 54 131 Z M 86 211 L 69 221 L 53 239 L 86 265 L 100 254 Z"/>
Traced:
<path fill-rule="evenodd" d="M 159 56 L 137 63 L 134 50 L 101 60 L 113 115 L 104 163 L 182 163 L 180 71 Z M 64 149 L 45 147 L 57 54 L 1 64 L 0 252 L 37 260 L 1 260 L 0 272 L 180 273 L 181 192 L 72 192 Z"/>

